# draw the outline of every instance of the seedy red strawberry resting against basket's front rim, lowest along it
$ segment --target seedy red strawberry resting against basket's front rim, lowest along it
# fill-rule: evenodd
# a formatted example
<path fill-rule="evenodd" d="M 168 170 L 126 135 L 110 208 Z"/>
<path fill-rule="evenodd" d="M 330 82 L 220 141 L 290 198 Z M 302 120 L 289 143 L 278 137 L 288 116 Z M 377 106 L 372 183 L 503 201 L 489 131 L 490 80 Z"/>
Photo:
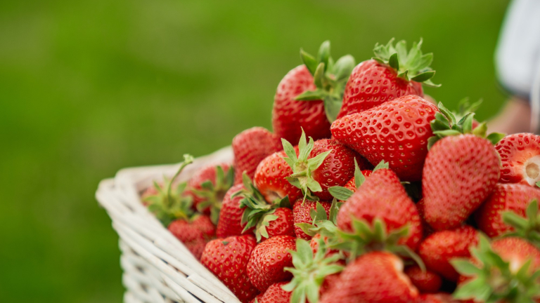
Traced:
<path fill-rule="evenodd" d="M 251 235 L 218 238 L 206 245 L 200 259 L 244 303 L 259 293 L 251 284 L 246 269 L 255 245 L 255 237 Z"/>

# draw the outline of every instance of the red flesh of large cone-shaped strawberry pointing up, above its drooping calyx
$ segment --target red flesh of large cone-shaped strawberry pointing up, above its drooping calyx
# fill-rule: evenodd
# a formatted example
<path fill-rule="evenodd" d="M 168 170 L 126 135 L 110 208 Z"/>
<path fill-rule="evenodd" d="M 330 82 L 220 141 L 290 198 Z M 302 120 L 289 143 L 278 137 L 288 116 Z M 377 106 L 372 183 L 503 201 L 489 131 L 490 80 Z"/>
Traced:
<path fill-rule="evenodd" d="M 366 178 L 364 184 L 340 208 L 338 227 L 342 231 L 353 231 L 353 217 L 368 224 L 373 224 L 375 219 L 382 220 L 387 232 L 408 226 L 407 236 L 398 243 L 409 246 L 411 250 L 416 250 L 422 238 L 418 210 L 392 170 L 374 170 Z"/>

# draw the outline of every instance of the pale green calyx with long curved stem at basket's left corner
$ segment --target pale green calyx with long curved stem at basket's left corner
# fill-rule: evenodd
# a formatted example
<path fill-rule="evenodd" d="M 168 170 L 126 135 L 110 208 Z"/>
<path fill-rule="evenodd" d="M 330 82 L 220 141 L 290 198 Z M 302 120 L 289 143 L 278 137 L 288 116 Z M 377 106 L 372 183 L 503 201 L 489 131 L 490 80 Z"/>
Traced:
<path fill-rule="evenodd" d="M 193 156 L 189 154 L 184 155 L 184 161 L 180 163 L 180 167 L 176 170 L 174 176 L 169 179 L 163 176 L 163 185 L 160 186 L 158 182 L 153 183 L 153 186 L 158 194 L 147 196 L 143 201 L 148 202 L 148 210 L 154 213 L 155 217 L 162 222 L 165 227 L 176 219 L 190 220 L 193 216 L 193 198 L 188 195 L 184 195 L 186 189 L 186 182 L 178 184 L 176 188 L 172 187 L 176 177 L 180 175 L 182 170 L 188 164 L 193 163 Z"/>

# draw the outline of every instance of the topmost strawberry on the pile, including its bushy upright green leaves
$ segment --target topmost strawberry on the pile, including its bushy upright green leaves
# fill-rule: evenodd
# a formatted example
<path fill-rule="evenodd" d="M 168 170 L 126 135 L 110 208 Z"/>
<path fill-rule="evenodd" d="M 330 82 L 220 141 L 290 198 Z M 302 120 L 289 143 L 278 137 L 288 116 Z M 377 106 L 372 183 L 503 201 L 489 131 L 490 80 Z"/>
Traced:
<path fill-rule="evenodd" d="M 435 86 L 430 81 L 435 71 L 429 68 L 433 55 L 422 55 L 422 41 L 413 43 L 409 52 L 405 41 L 399 41 L 395 47 L 393 42 L 394 39 L 386 46 L 375 45 L 376 57 L 354 67 L 345 86 L 338 118 L 364 112 L 405 95 L 423 97 L 421 82 Z"/>

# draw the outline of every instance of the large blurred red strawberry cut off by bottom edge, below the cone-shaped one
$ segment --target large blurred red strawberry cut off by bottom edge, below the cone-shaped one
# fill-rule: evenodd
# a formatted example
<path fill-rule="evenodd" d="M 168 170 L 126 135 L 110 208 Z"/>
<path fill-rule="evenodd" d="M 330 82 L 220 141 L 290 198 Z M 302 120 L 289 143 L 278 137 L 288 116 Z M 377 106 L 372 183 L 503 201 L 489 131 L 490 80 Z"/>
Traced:
<path fill-rule="evenodd" d="M 372 252 L 349 263 L 320 303 L 410 303 L 418 290 L 403 273 L 404 264 L 391 253 Z"/>

